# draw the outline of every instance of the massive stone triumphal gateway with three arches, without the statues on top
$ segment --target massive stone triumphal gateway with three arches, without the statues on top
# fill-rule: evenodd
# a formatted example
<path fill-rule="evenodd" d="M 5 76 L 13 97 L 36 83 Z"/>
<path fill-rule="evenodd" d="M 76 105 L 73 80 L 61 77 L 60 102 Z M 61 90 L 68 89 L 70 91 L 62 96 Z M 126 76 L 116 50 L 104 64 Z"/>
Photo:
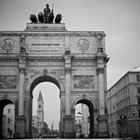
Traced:
<path fill-rule="evenodd" d="M 0 100 L 15 101 L 15 137 L 32 137 L 31 92 L 43 81 L 60 89 L 61 137 L 75 137 L 73 105 L 78 101 L 93 104 L 94 136 L 107 137 L 108 60 L 104 31 L 67 31 L 64 23 L 0 31 Z"/>

